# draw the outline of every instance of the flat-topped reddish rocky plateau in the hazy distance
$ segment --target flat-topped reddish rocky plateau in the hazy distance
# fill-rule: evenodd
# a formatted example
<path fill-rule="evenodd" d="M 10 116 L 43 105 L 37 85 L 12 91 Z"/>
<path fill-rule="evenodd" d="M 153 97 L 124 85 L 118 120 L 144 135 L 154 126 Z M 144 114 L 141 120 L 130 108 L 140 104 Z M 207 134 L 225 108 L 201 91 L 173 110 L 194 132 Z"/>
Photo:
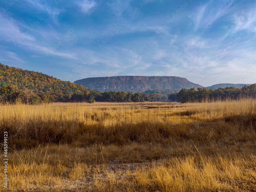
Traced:
<path fill-rule="evenodd" d="M 100 91 L 143 92 L 149 89 L 190 89 L 202 87 L 186 78 L 168 76 L 91 77 L 74 81 L 89 89 Z"/>

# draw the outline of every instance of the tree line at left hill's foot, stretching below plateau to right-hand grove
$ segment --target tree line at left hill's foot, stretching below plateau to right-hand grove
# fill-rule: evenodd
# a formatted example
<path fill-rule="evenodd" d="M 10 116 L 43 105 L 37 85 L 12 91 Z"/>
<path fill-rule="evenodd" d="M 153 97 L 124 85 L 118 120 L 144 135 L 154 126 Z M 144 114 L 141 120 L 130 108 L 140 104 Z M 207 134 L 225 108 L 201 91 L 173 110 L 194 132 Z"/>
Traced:
<path fill-rule="evenodd" d="M 144 102 L 144 101 L 159 101 L 168 100 L 167 95 L 148 94 L 148 93 L 132 93 L 131 91 L 105 91 L 90 90 L 85 88 L 84 91 L 73 93 L 72 95 L 58 100 L 53 94 L 38 93 L 33 89 L 18 89 L 14 85 L 0 86 L 0 102 L 2 103 L 26 103 L 26 104 L 40 104 L 51 102 L 88 102 L 95 101 L 106 102 Z"/>

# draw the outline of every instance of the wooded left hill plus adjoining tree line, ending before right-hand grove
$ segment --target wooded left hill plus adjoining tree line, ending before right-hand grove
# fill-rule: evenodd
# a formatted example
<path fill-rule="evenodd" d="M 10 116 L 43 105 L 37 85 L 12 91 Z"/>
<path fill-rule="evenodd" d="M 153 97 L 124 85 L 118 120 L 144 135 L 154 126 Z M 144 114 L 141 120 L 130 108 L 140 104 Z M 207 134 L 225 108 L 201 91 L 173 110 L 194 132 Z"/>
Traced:
<path fill-rule="evenodd" d="M 167 95 L 124 91 L 100 92 L 46 74 L 9 67 L 0 63 L 0 102 L 143 102 L 167 100 Z"/>

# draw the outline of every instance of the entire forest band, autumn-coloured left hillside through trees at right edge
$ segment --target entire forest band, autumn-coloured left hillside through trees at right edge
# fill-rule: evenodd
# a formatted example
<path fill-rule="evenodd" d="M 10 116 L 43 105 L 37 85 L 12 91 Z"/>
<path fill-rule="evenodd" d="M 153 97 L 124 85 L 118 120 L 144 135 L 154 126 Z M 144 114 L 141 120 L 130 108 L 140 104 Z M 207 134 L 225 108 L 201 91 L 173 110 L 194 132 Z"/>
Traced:
<path fill-rule="evenodd" d="M 100 92 L 80 84 L 48 76 L 43 73 L 9 67 L 0 63 L 0 102 L 1 103 L 51 103 L 51 102 L 144 102 L 171 100 L 202 102 L 211 100 L 255 97 L 256 84 L 242 88 L 226 87 L 216 90 L 207 88 L 155 89 L 143 93 L 130 91 Z"/>

